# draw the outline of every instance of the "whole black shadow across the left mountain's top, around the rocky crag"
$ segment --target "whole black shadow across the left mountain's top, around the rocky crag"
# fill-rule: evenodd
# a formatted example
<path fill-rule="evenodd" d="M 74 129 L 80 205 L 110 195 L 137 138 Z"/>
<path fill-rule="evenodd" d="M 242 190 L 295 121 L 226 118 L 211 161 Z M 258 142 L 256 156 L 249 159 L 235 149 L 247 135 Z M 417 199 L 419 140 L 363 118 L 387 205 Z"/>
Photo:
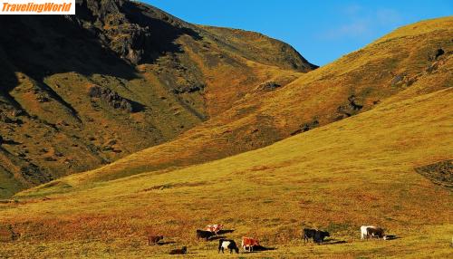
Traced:
<path fill-rule="evenodd" d="M 102 12 L 103 7 L 106 6 L 100 6 L 97 11 Z M 119 20 L 118 28 L 101 31 L 92 25 L 103 19 L 102 14 L 93 13 L 97 11 L 91 11 L 83 2 L 76 5 L 76 16 L 73 17 L 0 16 L 0 49 L 3 49 L 0 50 L 0 57 L 3 53 L 2 59 L 5 58 L 13 66 L 7 72 L 10 80 L 0 86 L 1 90 L 9 92 L 17 85 L 14 72 L 24 72 L 37 82 L 43 82 L 48 75 L 63 72 L 78 72 L 85 76 L 97 73 L 126 80 L 138 78 L 134 66 L 120 57 L 120 53 L 129 55 L 128 40 L 115 41 L 112 46 L 114 52 L 105 46 L 110 43 L 105 39 L 106 34 L 130 34 L 133 39 L 131 48 L 142 57 L 139 62 L 155 62 L 161 55 L 182 53 L 180 45 L 175 43 L 182 34 L 201 39 L 197 32 L 180 27 L 169 18 L 161 20 L 165 17 L 160 17 L 160 13 L 146 12 L 144 7 L 132 2 L 120 6 L 120 12 L 131 24 L 139 24 L 141 29 L 128 29 L 135 27 L 121 26 L 122 21 Z M 160 16 L 153 18 L 151 15 Z M 90 25 L 82 25 L 80 21 Z"/>

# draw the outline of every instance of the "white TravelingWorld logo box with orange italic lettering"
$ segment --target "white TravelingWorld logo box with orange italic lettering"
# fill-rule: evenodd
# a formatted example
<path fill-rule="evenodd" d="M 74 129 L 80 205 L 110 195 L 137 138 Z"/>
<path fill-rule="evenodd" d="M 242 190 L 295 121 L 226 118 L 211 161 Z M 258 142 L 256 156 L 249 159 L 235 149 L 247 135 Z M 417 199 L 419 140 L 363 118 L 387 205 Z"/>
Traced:
<path fill-rule="evenodd" d="M 75 0 L 0 0 L 0 14 L 75 14 Z"/>

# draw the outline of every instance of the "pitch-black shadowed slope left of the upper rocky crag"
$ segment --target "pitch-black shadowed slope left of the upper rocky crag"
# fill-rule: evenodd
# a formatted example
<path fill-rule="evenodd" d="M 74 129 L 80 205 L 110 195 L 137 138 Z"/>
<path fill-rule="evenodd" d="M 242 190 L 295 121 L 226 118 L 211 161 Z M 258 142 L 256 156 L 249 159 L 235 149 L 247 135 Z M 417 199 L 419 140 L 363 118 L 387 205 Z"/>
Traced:
<path fill-rule="evenodd" d="M 96 34 L 63 15 L 2 15 L 0 30 L 0 45 L 14 70 L 37 82 L 61 72 L 138 77 L 128 62 L 102 46 Z"/>

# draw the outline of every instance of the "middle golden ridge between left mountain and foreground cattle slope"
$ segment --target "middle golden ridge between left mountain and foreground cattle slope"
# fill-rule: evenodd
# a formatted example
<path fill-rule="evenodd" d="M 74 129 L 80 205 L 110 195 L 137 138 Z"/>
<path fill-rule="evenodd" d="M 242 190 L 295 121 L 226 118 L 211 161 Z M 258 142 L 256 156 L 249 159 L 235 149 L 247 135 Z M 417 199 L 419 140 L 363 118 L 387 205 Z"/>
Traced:
<path fill-rule="evenodd" d="M 451 17 L 402 27 L 276 90 L 257 86 L 229 110 L 174 141 L 62 181 L 83 187 L 93 181 L 225 158 L 384 103 L 448 88 L 453 85 L 452 28 Z M 437 56 L 439 49 L 443 54 Z M 257 74 L 273 71 L 259 70 L 256 62 L 248 64 Z M 281 82 L 292 78 L 277 71 L 272 75 Z"/>

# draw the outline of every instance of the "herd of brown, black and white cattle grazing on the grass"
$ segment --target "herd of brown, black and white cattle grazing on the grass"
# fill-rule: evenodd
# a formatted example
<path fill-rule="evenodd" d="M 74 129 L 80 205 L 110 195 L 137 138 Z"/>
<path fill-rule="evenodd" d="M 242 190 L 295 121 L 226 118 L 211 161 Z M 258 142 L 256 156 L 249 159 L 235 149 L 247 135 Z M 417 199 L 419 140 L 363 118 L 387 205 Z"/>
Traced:
<path fill-rule="evenodd" d="M 207 225 L 205 230 L 197 230 L 197 238 L 205 239 L 206 241 L 212 239 L 213 237 L 220 237 L 218 236 L 219 232 L 222 231 L 224 225 L 217 224 L 217 225 Z M 322 231 L 318 229 L 312 228 L 304 228 L 302 231 L 302 238 L 304 239 L 304 243 L 313 239 L 313 243 L 321 245 L 324 242 L 324 238 L 327 236 L 331 236 L 329 232 Z M 148 245 L 158 245 L 159 241 L 164 238 L 163 235 L 149 235 L 148 236 Z M 379 226 L 374 225 L 362 225 L 361 226 L 361 239 L 383 239 L 387 240 L 387 235 L 384 235 L 384 230 Z M 259 241 L 255 238 L 251 237 L 242 237 L 241 247 L 244 249 L 245 252 L 252 252 L 254 247 L 263 247 L 259 244 Z M 222 252 L 225 253 L 225 250 L 229 250 L 230 254 L 236 252 L 239 254 L 239 248 L 236 245 L 236 242 L 232 239 L 225 239 L 219 238 L 218 239 L 218 253 Z M 181 249 L 174 249 L 169 252 L 169 254 L 187 254 L 188 248 L 187 246 L 182 246 Z"/>

